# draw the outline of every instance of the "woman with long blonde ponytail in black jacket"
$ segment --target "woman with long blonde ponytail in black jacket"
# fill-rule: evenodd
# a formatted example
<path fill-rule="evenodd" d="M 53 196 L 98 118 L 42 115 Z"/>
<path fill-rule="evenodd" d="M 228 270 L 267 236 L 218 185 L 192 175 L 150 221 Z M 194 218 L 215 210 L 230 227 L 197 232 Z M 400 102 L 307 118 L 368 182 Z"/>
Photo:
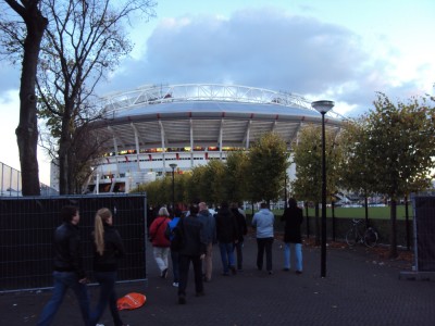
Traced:
<path fill-rule="evenodd" d="M 125 254 L 124 244 L 119 231 L 113 227 L 112 212 L 102 208 L 95 216 L 94 238 L 94 276 L 100 284 L 100 298 L 96 310 L 90 314 L 91 325 L 96 325 L 102 316 L 109 303 L 115 326 L 122 326 L 120 313 L 116 306 L 117 262 Z"/>

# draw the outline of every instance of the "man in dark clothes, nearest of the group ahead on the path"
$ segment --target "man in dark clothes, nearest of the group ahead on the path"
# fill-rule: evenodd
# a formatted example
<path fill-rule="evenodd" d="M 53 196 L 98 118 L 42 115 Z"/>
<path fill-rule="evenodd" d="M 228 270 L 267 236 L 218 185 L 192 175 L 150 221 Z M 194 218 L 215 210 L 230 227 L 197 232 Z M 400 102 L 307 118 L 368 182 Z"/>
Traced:
<path fill-rule="evenodd" d="M 179 285 L 178 303 L 186 303 L 186 288 L 190 262 L 194 265 L 196 296 L 204 294 L 202 283 L 202 263 L 206 256 L 207 239 L 203 234 L 203 225 L 198 220 L 198 205 L 190 205 L 189 216 L 179 221 L 179 230 L 183 235 L 183 246 L 179 250 Z"/>

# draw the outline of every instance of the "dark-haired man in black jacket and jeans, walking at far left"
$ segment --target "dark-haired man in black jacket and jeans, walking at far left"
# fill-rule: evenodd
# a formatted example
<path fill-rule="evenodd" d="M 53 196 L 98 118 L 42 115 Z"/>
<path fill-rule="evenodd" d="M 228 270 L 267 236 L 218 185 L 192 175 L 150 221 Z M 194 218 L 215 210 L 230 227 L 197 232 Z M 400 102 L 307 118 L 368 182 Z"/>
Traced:
<path fill-rule="evenodd" d="M 89 325 L 89 296 L 82 263 L 78 208 L 61 210 L 63 224 L 54 231 L 53 293 L 39 316 L 37 325 L 50 325 L 69 288 L 73 289 L 85 325 Z"/>

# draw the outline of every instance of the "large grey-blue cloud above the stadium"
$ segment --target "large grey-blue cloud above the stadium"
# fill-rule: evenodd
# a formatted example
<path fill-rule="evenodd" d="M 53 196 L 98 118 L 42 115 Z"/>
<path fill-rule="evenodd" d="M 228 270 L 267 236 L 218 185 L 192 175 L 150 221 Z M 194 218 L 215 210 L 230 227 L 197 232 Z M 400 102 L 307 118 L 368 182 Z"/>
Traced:
<path fill-rule="evenodd" d="M 385 46 L 383 51 L 394 49 Z M 314 99 L 327 93 L 347 108 L 365 109 L 375 91 L 388 93 L 395 77 L 391 63 L 366 51 L 355 32 L 271 9 L 236 11 L 227 18 L 165 18 L 144 53 L 126 60 L 107 89 L 231 80 Z"/>

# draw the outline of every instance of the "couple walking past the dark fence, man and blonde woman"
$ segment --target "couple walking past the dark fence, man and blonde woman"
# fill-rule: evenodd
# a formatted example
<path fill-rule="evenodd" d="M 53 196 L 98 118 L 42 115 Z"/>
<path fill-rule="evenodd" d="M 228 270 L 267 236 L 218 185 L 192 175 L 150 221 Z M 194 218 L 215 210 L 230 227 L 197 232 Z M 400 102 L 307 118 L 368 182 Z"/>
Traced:
<path fill-rule="evenodd" d="M 114 325 L 124 325 L 117 311 L 114 285 L 117 262 L 124 255 L 125 250 L 119 231 L 113 227 L 112 212 L 107 208 L 97 211 L 94 231 L 90 235 L 94 243 L 94 277 L 100 285 L 99 300 L 94 310 L 89 305 L 86 286 L 89 278 L 83 267 L 78 208 L 63 206 L 61 217 L 63 223 L 54 231 L 53 292 L 45 305 L 37 325 L 51 325 L 69 288 L 77 298 L 84 325 L 98 325 L 98 321 L 108 305 Z"/>

